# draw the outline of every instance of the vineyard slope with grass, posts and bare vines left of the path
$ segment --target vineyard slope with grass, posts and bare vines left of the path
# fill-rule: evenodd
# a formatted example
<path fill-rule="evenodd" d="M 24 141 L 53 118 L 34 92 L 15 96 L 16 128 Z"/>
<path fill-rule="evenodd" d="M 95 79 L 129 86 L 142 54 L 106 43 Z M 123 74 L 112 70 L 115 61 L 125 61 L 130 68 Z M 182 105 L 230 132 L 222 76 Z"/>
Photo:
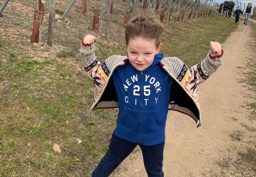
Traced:
<path fill-rule="evenodd" d="M 88 114 L 93 86 L 79 61 L 86 33 L 97 37 L 102 61 L 126 54 L 123 27 L 130 18 L 152 14 L 165 26 L 162 52 L 194 65 L 211 40 L 224 42 L 237 27 L 214 1 L 0 5 L 0 176 L 90 176 L 108 149 L 118 111 Z"/>

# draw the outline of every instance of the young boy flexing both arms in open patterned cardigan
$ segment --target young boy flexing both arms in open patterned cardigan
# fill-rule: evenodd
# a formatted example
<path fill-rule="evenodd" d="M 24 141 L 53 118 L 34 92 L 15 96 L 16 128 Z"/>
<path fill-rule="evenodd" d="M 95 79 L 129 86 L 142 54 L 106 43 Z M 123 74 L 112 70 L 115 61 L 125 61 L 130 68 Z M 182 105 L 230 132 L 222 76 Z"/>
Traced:
<path fill-rule="evenodd" d="M 147 175 L 164 176 L 167 112 L 183 112 L 201 125 L 197 84 L 221 65 L 223 50 L 218 42 L 210 42 L 206 58 L 188 68 L 180 59 L 160 53 L 163 27 L 158 20 L 137 16 L 125 29 L 128 56 L 113 55 L 100 63 L 94 54 L 96 37 L 86 35 L 81 44 L 83 67 L 94 80 L 95 102 L 89 112 L 119 108 L 109 150 L 92 176 L 109 176 L 137 145 Z"/>

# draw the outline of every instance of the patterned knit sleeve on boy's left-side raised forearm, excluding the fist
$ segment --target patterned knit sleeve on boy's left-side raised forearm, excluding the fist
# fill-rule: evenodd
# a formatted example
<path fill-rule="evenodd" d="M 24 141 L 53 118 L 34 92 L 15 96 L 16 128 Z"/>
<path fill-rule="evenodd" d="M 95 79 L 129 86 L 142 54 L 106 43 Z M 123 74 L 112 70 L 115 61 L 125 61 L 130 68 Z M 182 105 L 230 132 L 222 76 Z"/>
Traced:
<path fill-rule="evenodd" d="M 81 44 L 81 61 L 85 71 L 89 75 L 89 78 L 91 78 L 92 80 L 96 76 L 98 68 L 100 67 L 100 61 L 98 61 L 98 59 L 96 58 L 94 50 L 94 44 L 92 44 L 91 46 L 83 46 L 83 44 Z"/>

